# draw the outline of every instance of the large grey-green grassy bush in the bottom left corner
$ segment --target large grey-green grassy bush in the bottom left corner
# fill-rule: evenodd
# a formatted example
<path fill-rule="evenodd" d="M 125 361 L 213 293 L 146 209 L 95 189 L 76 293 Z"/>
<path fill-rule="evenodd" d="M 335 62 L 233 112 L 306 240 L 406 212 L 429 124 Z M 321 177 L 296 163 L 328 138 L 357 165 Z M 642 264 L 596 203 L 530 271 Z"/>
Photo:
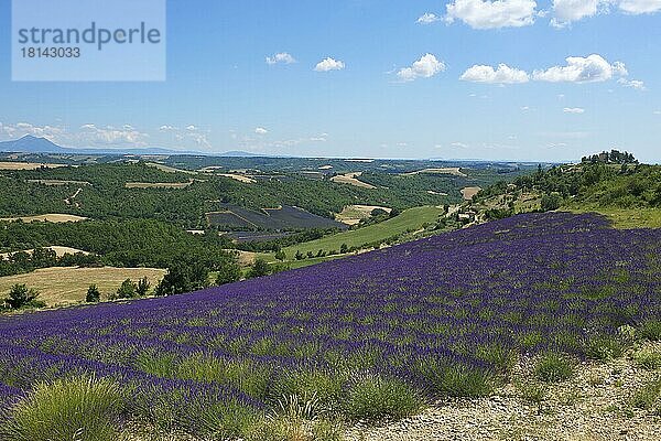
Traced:
<path fill-rule="evenodd" d="M 14 441 L 112 441 L 122 407 L 110 380 L 59 379 L 37 385 L 13 408 L 8 432 Z"/>

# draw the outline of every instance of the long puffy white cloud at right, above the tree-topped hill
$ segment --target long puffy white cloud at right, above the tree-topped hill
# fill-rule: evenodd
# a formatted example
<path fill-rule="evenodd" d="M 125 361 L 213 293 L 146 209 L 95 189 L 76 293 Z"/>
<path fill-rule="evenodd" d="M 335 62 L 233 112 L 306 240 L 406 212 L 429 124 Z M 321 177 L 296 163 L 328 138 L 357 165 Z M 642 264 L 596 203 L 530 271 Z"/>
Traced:
<path fill-rule="evenodd" d="M 550 83 L 595 83 L 605 82 L 617 76 L 628 75 L 624 63 L 608 63 L 597 54 L 587 57 L 570 56 L 566 66 L 553 66 L 545 71 L 534 71 L 533 79 Z"/>

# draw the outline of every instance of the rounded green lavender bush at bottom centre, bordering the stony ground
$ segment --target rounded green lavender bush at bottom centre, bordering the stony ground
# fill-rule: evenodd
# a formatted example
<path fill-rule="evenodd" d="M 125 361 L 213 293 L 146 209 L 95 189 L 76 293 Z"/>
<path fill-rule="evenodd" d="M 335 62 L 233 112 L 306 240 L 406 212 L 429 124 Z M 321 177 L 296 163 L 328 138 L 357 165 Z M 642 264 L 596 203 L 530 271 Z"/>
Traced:
<path fill-rule="evenodd" d="M 353 419 L 404 418 L 418 412 L 424 399 L 411 385 L 377 375 L 354 380 L 345 398 L 345 412 Z"/>

